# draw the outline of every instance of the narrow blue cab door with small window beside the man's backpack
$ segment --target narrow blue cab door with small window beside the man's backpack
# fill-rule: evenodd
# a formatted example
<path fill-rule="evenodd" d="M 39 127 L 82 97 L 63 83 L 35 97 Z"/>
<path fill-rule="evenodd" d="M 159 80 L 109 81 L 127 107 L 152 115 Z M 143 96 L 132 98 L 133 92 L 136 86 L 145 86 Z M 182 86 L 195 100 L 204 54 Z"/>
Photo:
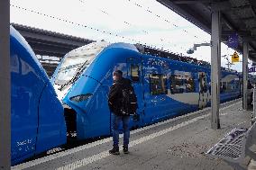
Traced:
<path fill-rule="evenodd" d="M 133 116 L 133 126 L 139 125 L 142 121 L 142 114 L 144 112 L 144 89 L 142 78 L 142 60 L 138 58 L 127 59 L 127 76 L 133 82 L 133 88 L 137 96 L 138 110 L 137 114 Z"/>

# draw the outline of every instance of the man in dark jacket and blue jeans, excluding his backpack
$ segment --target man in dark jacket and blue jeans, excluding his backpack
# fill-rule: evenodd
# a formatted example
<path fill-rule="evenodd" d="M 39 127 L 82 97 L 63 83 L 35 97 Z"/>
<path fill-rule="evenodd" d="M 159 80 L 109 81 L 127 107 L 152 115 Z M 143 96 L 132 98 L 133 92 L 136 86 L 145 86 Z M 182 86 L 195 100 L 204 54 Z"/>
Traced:
<path fill-rule="evenodd" d="M 130 138 L 129 121 L 130 115 L 123 114 L 123 89 L 132 86 L 131 80 L 123 78 L 123 72 L 116 70 L 113 72 L 114 84 L 110 87 L 108 94 L 108 106 L 112 112 L 112 133 L 113 133 L 113 148 L 109 150 L 110 154 L 119 155 L 119 124 L 123 122 L 123 153 L 128 154 L 128 144 Z M 132 86 L 133 88 L 133 86 Z"/>

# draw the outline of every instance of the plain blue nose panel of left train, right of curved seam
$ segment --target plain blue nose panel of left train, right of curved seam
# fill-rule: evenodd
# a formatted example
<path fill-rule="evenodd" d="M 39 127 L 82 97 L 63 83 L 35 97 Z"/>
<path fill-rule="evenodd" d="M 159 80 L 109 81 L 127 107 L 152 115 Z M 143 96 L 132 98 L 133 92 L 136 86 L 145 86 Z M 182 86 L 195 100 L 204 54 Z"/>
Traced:
<path fill-rule="evenodd" d="M 64 111 L 51 84 L 44 86 L 39 101 L 36 154 L 67 142 Z"/>

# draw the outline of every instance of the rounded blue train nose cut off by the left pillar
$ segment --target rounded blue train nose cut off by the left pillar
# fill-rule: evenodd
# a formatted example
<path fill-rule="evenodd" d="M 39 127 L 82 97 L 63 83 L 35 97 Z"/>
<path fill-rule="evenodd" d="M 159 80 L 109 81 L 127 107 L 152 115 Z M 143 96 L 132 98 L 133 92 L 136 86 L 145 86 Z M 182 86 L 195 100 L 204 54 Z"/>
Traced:
<path fill-rule="evenodd" d="M 63 107 L 38 59 L 10 27 L 12 165 L 66 143 Z"/>

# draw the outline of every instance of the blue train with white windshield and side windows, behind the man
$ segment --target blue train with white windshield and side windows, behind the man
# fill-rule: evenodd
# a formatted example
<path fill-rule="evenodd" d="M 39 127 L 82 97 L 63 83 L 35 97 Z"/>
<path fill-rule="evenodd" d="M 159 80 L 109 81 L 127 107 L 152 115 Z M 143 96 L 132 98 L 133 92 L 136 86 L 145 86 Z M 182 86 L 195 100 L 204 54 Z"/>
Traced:
<path fill-rule="evenodd" d="M 111 134 L 107 94 L 112 72 L 133 81 L 138 115 L 131 127 L 142 127 L 210 104 L 210 68 L 142 54 L 126 43 L 93 42 L 70 51 L 51 83 L 65 108 L 69 134 L 88 139 Z M 239 76 L 222 72 L 221 102 L 240 94 Z"/>

